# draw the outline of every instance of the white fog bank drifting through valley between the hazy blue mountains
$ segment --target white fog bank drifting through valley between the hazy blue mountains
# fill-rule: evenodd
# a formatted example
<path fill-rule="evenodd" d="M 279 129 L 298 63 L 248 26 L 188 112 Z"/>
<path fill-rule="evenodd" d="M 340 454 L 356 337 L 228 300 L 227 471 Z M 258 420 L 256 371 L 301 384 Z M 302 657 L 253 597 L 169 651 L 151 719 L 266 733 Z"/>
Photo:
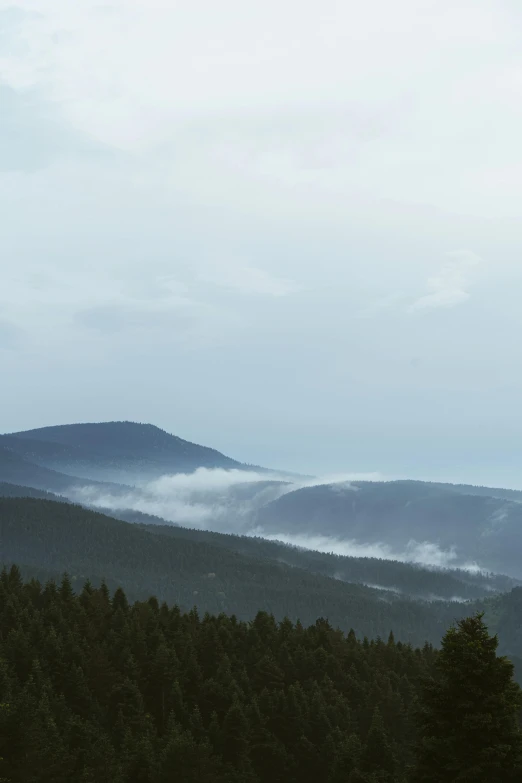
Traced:
<path fill-rule="evenodd" d="M 476 563 L 459 557 L 454 548 L 442 549 L 430 541 L 410 540 L 404 548 L 384 542 L 366 543 L 325 535 L 265 532 L 256 522 L 256 511 L 267 503 L 303 487 L 329 485 L 334 490 L 357 492 L 355 481 L 377 481 L 377 473 L 336 474 L 289 480 L 284 475 L 258 471 L 198 468 L 193 473 L 165 475 L 129 487 L 126 493 L 100 491 L 91 486 L 77 489 L 76 502 L 104 510 L 132 510 L 161 517 L 182 526 L 260 536 L 270 541 L 347 557 L 372 557 L 416 563 L 424 567 L 479 571 Z"/>

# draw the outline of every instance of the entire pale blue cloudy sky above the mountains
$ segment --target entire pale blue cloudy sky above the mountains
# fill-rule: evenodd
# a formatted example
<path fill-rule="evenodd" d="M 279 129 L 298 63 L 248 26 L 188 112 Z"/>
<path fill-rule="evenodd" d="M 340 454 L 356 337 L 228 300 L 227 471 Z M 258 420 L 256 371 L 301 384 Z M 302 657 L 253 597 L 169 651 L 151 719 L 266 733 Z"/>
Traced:
<path fill-rule="evenodd" d="M 0 0 L 0 431 L 522 487 L 522 6 Z"/>

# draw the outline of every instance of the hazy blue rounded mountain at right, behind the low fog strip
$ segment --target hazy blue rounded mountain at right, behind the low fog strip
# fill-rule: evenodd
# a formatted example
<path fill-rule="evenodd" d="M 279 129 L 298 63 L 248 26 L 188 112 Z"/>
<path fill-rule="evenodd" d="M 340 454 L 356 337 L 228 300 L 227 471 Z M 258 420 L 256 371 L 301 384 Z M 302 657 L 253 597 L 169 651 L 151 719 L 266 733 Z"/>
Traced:
<path fill-rule="evenodd" d="M 301 540 L 381 544 L 401 559 L 428 542 L 453 552 L 455 562 L 522 578 L 522 503 L 473 489 L 415 481 L 305 487 L 258 509 L 255 527 Z"/>

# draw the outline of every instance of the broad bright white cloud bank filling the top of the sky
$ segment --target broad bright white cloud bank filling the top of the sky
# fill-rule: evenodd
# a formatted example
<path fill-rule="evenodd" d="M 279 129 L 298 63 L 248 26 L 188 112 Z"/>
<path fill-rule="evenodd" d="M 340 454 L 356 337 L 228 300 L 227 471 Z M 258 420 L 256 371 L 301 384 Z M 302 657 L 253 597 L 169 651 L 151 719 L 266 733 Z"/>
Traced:
<path fill-rule="evenodd" d="M 4 81 L 38 88 L 64 121 L 104 144 L 145 155 L 174 142 L 162 167 L 178 187 L 215 187 L 223 198 L 232 187 L 240 207 L 265 183 L 290 203 L 370 195 L 513 209 L 488 183 L 500 177 L 516 193 L 507 176 L 520 160 L 514 4 L 9 7 L 25 14 L 6 24 Z M 265 209 L 273 199 L 263 194 Z"/>

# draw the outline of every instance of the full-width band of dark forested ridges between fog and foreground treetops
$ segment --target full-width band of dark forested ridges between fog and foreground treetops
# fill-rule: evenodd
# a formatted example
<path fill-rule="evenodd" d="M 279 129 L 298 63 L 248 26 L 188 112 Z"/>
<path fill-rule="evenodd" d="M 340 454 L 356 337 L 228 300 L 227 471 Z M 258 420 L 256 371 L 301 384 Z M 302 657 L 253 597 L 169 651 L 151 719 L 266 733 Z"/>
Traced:
<path fill-rule="evenodd" d="M 412 594 L 446 595 L 458 582 L 458 592 L 468 590 L 471 597 L 484 585 L 509 590 L 511 580 L 503 577 L 459 577 L 239 536 L 133 525 L 71 503 L 0 497 L 0 565 L 12 563 L 24 577 L 44 582 L 67 571 L 75 590 L 86 579 L 97 586 L 105 581 L 111 590 L 122 587 L 132 601 L 155 595 L 183 610 L 197 606 L 241 620 L 251 620 L 259 610 L 304 625 L 322 616 L 345 632 L 354 628 L 359 637 L 386 637 L 393 628 L 397 639 L 414 645 L 438 645 L 445 629 L 475 606 L 486 612 L 501 651 L 522 677 L 522 589 L 473 604 L 428 603 L 349 581 L 371 576 Z"/>

